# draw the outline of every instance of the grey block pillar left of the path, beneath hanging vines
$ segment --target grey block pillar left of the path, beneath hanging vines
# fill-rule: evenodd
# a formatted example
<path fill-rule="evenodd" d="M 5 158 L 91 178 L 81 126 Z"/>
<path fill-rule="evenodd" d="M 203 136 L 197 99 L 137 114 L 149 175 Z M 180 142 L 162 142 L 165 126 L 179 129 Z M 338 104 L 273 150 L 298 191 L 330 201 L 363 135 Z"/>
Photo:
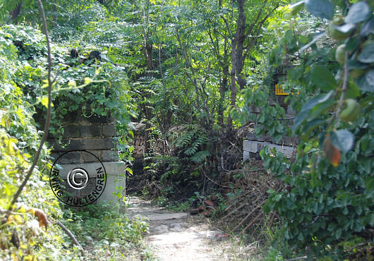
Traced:
<path fill-rule="evenodd" d="M 114 119 L 110 116 L 82 116 L 81 113 L 69 114 L 61 123 L 64 129 L 62 142 L 58 143 L 53 135 L 49 135 L 49 144 L 53 146 L 52 157 L 59 158 L 62 154 L 72 150 L 86 150 L 94 154 L 107 172 L 107 186 L 104 193 L 99 197 L 97 202 L 111 203 L 119 202 L 119 199 L 113 195 L 119 190 L 116 187 L 121 186 L 124 190 L 126 187 L 124 162 L 120 162 L 119 154 L 116 150 L 116 130 Z M 68 153 L 69 157 L 63 157 L 61 164 L 69 166 L 76 164 L 84 169 L 92 169 L 90 167 L 93 162 L 97 162 L 97 158 L 92 154 L 84 152 Z M 95 179 L 95 178 L 93 178 Z M 90 183 L 95 184 L 95 181 Z M 88 186 L 89 189 L 90 186 Z M 123 190 L 120 192 L 124 195 Z M 73 195 L 79 197 L 82 191 L 75 191 Z"/>

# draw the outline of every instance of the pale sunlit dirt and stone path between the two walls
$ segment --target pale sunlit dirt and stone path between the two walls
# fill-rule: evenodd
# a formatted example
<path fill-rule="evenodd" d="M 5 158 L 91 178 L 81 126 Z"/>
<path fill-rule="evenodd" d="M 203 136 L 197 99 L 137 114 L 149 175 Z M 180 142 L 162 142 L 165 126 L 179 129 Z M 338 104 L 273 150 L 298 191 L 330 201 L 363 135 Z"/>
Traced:
<path fill-rule="evenodd" d="M 171 213 L 139 198 L 130 198 L 128 210 L 149 220 L 146 241 L 159 260 L 243 260 L 232 241 L 203 217 Z"/>

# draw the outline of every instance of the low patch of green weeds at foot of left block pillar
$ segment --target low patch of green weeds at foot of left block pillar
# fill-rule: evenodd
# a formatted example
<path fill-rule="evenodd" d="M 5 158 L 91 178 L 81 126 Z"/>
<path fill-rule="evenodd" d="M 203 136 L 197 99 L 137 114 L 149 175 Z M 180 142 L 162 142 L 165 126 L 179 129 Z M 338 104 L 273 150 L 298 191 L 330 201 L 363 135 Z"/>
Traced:
<path fill-rule="evenodd" d="M 143 243 L 147 222 L 140 217 L 130 219 L 119 207 L 88 205 L 78 210 L 67 209 L 64 216 L 88 258 L 123 260 L 123 256 L 142 255 L 149 260 L 151 253 Z"/>

